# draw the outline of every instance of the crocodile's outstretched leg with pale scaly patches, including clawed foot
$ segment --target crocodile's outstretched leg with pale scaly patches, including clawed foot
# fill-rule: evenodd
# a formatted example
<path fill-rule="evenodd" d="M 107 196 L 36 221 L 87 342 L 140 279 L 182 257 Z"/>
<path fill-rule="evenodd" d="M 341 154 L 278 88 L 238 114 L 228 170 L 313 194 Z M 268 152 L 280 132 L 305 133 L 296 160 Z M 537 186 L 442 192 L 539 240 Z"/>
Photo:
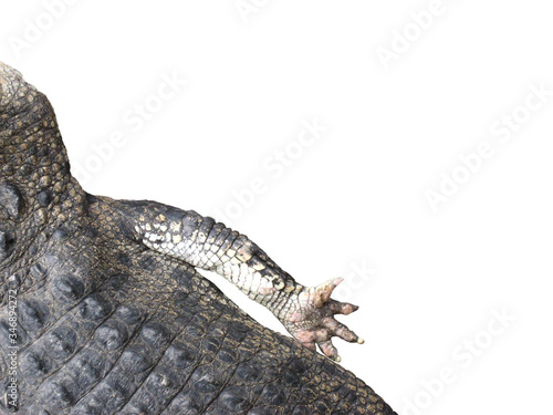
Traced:
<path fill-rule="evenodd" d="M 315 350 L 316 343 L 328 357 L 340 361 L 331 342 L 333 335 L 363 343 L 333 317 L 357 310 L 356 305 L 330 299 L 342 279 L 314 288 L 303 287 L 248 237 L 191 210 L 133 200 L 115 201 L 113 208 L 122 212 L 122 220 L 134 229 L 137 241 L 223 276 L 249 298 L 271 310 L 306 347 Z"/>

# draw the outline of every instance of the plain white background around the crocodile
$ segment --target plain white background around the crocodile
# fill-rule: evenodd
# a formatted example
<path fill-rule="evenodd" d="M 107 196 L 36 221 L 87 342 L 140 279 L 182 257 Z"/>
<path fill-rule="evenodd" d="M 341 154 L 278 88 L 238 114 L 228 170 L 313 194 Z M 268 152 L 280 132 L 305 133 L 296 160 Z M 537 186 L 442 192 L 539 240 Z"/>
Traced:
<path fill-rule="evenodd" d="M 431 21 L 428 1 L 247 0 L 246 18 L 233 0 L 52 2 L 0 3 L 0 61 L 48 94 L 73 166 L 95 166 L 87 191 L 216 216 L 260 178 L 228 225 L 304 284 L 346 277 L 337 298 L 362 308 L 342 321 L 366 343 L 336 340 L 343 365 L 398 413 L 551 412 L 553 96 L 524 110 L 553 90 L 547 2 L 444 0 Z M 164 76 L 187 84 L 125 122 Z M 263 163 L 314 118 L 327 129 L 274 178 Z M 462 176 L 482 143 L 493 156 Z"/>

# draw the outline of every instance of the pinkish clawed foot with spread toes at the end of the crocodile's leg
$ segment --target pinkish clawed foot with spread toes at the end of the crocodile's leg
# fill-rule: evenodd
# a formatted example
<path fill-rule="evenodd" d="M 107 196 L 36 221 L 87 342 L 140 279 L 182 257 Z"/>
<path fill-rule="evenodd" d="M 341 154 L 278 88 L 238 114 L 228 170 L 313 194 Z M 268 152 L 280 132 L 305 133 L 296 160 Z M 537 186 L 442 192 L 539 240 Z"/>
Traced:
<path fill-rule="evenodd" d="M 336 278 L 319 287 L 302 290 L 282 321 L 290 334 L 305 347 L 316 350 L 316 344 L 327 357 L 336 362 L 340 362 L 341 357 L 332 344 L 333 336 L 351 343 L 363 344 L 365 342 L 334 319 L 334 314 L 349 314 L 358 309 L 357 305 L 331 299 L 332 291 L 343 280 L 343 278 Z"/>

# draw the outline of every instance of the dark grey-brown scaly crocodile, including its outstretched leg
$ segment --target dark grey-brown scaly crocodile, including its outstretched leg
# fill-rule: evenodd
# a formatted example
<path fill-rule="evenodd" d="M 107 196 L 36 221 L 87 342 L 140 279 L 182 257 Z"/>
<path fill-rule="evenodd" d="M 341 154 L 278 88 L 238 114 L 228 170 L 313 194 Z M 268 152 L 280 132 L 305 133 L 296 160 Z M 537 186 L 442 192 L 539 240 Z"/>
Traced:
<path fill-rule="evenodd" d="M 332 338 L 363 343 L 334 318 L 357 309 L 331 298 L 340 282 L 302 286 L 194 210 L 87 194 L 46 96 L 0 63 L 2 413 L 395 414 L 337 363 Z"/>

